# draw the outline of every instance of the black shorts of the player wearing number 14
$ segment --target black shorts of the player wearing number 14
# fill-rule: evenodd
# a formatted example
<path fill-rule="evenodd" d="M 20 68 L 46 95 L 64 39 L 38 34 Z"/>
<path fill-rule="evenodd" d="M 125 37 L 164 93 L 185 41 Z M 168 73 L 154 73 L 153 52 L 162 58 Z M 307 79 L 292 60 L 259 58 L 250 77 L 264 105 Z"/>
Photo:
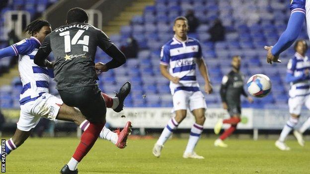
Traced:
<path fill-rule="evenodd" d="M 59 94 L 66 105 L 77 107 L 90 122 L 105 123 L 106 105 L 97 85 L 59 90 Z"/>

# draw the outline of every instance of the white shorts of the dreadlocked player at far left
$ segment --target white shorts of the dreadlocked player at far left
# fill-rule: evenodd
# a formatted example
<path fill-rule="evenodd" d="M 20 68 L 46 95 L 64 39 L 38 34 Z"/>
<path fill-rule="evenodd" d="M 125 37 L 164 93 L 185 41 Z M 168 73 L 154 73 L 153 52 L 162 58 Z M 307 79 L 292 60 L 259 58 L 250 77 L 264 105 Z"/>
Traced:
<path fill-rule="evenodd" d="M 63 103 L 60 98 L 44 93 L 37 100 L 20 105 L 17 128 L 22 131 L 29 131 L 38 124 L 41 116 L 55 120 Z"/>

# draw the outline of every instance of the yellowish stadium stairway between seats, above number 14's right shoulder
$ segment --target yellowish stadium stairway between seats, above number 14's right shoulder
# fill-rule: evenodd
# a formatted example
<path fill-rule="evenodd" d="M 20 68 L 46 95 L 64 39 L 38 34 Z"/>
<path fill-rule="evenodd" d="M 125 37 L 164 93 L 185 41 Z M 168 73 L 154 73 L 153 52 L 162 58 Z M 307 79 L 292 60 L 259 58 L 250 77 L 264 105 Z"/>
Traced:
<path fill-rule="evenodd" d="M 127 6 L 119 16 L 115 17 L 112 21 L 103 26 L 103 31 L 110 36 L 111 34 L 118 34 L 124 25 L 129 25 L 131 19 L 135 15 L 142 15 L 144 8 L 147 5 L 154 5 L 155 0 L 134 0 L 130 6 Z"/>

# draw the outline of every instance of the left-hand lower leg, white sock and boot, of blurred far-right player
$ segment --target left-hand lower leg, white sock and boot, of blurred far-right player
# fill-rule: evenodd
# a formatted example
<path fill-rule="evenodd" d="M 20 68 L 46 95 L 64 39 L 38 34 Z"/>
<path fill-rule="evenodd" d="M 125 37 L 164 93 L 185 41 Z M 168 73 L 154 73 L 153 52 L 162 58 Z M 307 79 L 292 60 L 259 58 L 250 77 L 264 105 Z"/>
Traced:
<path fill-rule="evenodd" d="M 284 125 L 282 132 L 280 134 L 279 139 L 275 142 L 275 146 L 280 149 L 280 150 L 291 150 L 290 147 L 288 147 L 284 141 L 286 139 L 286 137 L 288 136 L 288 134 L 294 129 L 294 127 L 297 125 L 298 123 L 298 119 L 299 117 L 296 115 L 293 115 L 290 117 L 290 119 L 286 122 L 286 124 Z"/>

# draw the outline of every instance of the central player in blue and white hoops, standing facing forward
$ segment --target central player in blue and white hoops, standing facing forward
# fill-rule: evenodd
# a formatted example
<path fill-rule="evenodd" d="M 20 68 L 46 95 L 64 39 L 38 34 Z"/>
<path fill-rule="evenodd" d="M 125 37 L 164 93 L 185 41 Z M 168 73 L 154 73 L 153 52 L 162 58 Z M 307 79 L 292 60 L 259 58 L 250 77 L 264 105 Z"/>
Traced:
<path fill-rule="evenodd" d="M 176 116 L 169 120 L 157 140 L 153 148 L 155 157 L 160 156 L 163 144 L 186 117 L 187 108 L 189 108 L 196 118 L 196 123 L 191 128 L 183 158 L 204 159 L 204 157 L 194 152 L 206 119 L 205 98 L 199 90 L 199 84 L 196 80 L 196 63 L 201 75 L 205 79 L 205 92 L 207 94 L 212 92 L 212 86 L 207 66 L 202 57 L 200 43 L 196 39 L 187 37 L 188 30 L 187 19 L 183 16 L 177 17 L 173 25 L 175 35 L 161 49 L 160 71 L 165 78 L 170 80 L 173 110 Z M 167 70 L 168 66 L 170 66 L 169 71 Z"/>

